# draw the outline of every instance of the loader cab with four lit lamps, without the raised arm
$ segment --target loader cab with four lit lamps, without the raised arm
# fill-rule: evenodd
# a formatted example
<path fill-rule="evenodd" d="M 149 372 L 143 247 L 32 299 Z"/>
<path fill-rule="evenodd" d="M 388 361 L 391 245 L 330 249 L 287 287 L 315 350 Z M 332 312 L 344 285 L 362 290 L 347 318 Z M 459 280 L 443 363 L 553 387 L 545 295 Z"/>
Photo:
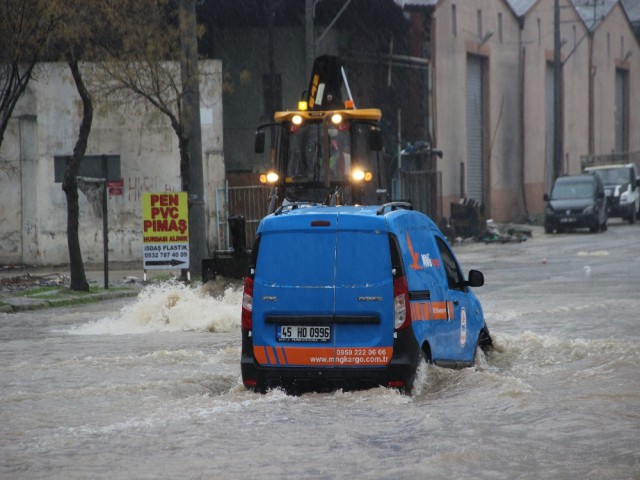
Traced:
<path fill-rule="evenodd" d="M 375 111 L 368 115 L 333 111 L 320 119 L 286 113 L 281 122 L 259 128 L 256 153 L 264 153 L 265 131 L 271 130 L 271 166 L 260 180 L 277 189 L 275 206 L 293 201 L 365 202 L 378 186 L 372 180 L 382 155 L 376 116 Z"/>

